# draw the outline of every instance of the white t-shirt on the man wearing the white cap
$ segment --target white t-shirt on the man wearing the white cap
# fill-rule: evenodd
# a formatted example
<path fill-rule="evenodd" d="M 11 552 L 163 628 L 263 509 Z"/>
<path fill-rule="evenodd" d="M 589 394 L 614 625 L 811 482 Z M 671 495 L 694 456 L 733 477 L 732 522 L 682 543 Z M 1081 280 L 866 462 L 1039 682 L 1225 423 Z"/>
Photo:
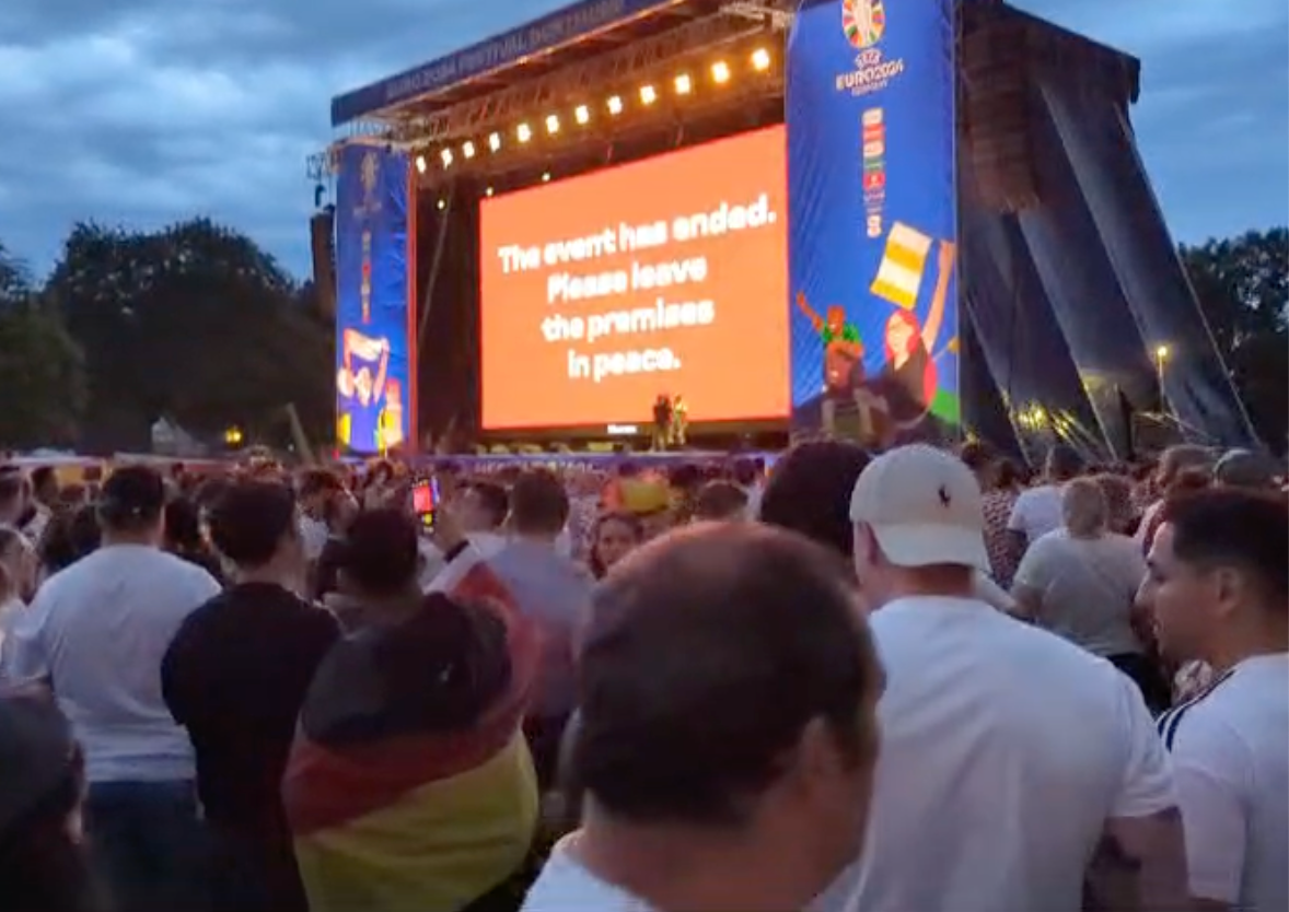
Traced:
<path fill-rule="evenodd" d="M 982 602 L 869 623 L 887 689 L 867 844 L 812 908 L 1079 912 L 1107 819 L 1176 805 L 1137 685 Z"/>

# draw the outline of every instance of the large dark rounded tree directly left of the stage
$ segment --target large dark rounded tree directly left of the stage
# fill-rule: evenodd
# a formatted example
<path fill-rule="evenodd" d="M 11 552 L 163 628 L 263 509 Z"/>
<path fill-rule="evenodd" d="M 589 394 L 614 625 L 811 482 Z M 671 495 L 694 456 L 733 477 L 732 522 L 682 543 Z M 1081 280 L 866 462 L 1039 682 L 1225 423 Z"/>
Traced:
<path fill-rule="evenodd" d="M 85 350 L 92 413 L 112 447 L 146 446 L 161 417 L 285 443 L 293 402 L 308 430 L 330 430 L 331 331 L 237 232 L 206 219 L 144 234 L 77 224 L 48 294 Z"/>

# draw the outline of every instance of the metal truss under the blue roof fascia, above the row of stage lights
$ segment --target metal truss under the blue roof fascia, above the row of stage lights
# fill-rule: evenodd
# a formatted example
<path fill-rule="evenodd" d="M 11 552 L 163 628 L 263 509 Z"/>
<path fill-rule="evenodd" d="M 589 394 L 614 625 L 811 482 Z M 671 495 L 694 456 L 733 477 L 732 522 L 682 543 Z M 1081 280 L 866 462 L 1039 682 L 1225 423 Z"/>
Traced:
<path fill-rule="evenodd" d="M 321 152 L 308 156 L 305 174 L 322 184 L 336 169 L 339 151 L 348 144 L 369 144 L 405 151 L 443 146 L 503 130 L 527 116 L 567 103 L 606 86 L 621 86 L 655 76 L 668 66 L 717 53 L 757 36 L 781 41 L 791 27 L 793 13 L 776 0 L 754 3 L 731 0 L 718 12 L 691 19 L 657 35 L 633 40 L 589 59 L 570 63 L 548 73 L 526 79 L 507 88 L 461 100 L 428 116 L 392 109 L 384 117 L 357 121 L 347 135 Z M 782 91 L 782 68 L 776 67 L 761 80 L 759 91 Z M 406 106 L 401 106 L 406 107 Z"/>

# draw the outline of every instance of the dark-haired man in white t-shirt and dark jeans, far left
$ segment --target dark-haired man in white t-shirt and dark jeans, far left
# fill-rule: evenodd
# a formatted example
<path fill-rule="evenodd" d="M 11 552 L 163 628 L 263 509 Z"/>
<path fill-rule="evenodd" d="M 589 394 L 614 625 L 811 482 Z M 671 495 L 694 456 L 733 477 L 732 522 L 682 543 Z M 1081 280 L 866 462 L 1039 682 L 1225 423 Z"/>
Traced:
<path fill-rule="evenodd" d="M 85 751 L 88 828 L 122 909 L 188 907 L 200 845 L 193 755 L 161 696 L 161 658 L 219 593 L 161 550 L 165 483 L 117 469 L 98 501 L 103 545 L 46 580 L 10 636 L 14 678 L 46 681 Z"/>

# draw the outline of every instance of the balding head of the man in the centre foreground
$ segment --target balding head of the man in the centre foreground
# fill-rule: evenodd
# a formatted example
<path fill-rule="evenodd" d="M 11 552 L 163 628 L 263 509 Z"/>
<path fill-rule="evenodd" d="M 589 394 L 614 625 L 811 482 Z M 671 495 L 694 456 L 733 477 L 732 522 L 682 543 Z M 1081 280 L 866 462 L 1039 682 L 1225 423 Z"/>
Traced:
<path fill-rule="evenodd" d="M 790 532 L 693 526 L 614 567 L 581 656 L 575 777 L 639 822 L 737 824 L 821 720 L 862 763 L 882 674 L 837 556 Z"/>

